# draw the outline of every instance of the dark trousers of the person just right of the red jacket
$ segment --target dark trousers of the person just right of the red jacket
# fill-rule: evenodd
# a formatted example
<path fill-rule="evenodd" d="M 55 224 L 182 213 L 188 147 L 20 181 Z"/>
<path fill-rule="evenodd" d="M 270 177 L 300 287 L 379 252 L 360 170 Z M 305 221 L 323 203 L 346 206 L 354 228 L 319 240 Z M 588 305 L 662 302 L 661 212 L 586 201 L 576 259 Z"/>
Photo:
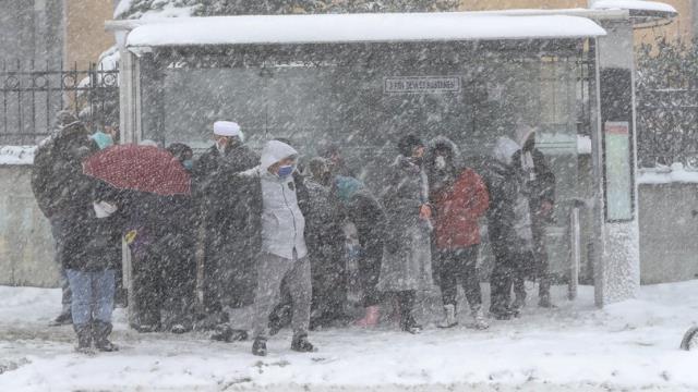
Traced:
<path fill-rule="evenodd" d="M 491 305 L 490 311 L 498 313 L 509 309 L 512 290 L 518 297 L 526 298 L 524 282 L 534 262 L 532 252 L 495 252 L 494 269 L 490 277 Z"/>

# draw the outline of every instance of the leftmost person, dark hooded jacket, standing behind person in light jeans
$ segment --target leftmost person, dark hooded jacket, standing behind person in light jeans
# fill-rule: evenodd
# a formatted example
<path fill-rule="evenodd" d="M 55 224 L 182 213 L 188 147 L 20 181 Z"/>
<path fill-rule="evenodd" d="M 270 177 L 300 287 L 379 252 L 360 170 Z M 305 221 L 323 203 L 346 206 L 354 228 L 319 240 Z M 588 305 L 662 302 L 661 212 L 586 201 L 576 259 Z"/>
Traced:
<path fill-rule="evenodd" d="M 97 151 L 87 128 L 69 111 L 56 115 L 51 135 L 36 149 L 32 168 L 32 191 L 44 216 L 51 224 L 56 244 L 55 260 L 61 277 L 61 314 L 51 326 L 70 324 L 71 290 L 67 271 L 62 267 L 83 240 L 75 234 L 87 220 L 92 206 L 92 182 L 83 174 L 82 161 Z"/>

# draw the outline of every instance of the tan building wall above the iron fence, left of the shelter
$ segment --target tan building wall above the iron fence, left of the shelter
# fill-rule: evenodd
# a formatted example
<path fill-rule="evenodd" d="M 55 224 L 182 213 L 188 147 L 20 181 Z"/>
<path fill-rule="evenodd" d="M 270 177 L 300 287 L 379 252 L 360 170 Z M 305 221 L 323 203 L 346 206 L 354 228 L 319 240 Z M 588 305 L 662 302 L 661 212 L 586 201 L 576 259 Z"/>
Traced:
<path fill-rule="evenodd" d="M 115 45 L 113 34 L 105 32 L 105 21 L 113 19 L 113 0 L 64 0 L 65 62 L 85 69 Z"/>

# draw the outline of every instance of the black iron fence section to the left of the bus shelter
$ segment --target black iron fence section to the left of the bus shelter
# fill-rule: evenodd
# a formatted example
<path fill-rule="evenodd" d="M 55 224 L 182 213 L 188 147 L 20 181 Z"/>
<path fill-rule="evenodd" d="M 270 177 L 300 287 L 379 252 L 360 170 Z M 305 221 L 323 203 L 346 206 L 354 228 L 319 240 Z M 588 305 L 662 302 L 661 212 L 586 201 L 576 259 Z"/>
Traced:
<path fill-rule="evenodd" d="M 0 69 L 0 145 L 32 145 L 46 137 L 60 110 L 92 130 L 119 121 L 119 72 L 3 62 Z"/>

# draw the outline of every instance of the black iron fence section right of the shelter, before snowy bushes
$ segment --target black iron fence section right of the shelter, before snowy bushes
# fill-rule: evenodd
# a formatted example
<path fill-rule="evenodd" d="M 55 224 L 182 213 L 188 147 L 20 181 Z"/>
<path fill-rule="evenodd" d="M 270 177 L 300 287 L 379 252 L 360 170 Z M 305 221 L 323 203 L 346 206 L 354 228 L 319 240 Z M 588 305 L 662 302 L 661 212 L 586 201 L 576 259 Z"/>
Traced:
<path fill-rule="evenodd" d="M 698 168 L 698 89 L 640 85 L 637 121 L 640 167 L 681 162 Z"/>

